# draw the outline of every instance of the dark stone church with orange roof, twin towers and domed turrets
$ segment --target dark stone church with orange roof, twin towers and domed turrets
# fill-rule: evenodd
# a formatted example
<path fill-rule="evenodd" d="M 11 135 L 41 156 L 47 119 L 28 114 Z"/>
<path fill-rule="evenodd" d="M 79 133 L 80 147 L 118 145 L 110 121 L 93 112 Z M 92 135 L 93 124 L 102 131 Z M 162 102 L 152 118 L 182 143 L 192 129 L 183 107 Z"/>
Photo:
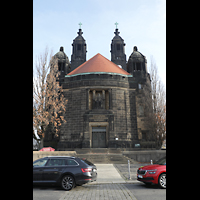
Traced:
<path fill-rule="evenodd" d="M 73 40 L 71 62 L 63 47 L 54 56 L 68 100 L 57 150 L 154 147 L 155 140 L 149 137 L 151 86 L 145 56 L 135 46 L 127 62 L 125 43 L 116 28 L 111 60 L 97 53 L 87 61 L 82 34 L 79 29 Z M 44 145 L 51 140 L 47 134 Z"/>

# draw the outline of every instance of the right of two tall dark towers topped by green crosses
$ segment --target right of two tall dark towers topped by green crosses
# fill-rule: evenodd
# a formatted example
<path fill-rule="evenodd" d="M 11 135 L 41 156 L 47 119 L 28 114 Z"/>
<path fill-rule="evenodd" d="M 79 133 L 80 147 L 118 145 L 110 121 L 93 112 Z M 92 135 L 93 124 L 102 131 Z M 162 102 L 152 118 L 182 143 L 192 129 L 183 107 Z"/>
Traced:
<path fill-rule="evenodd" d="M 116 65 L 121 65 L 124 70 L 126 70 L 126 54 L 125 54 L 125 43 L 124 40 L 119 36 L 117 25 L 115 23 L 115 36 L 112 39 L 111 43 L 111 61 L 114 62 Z"/>

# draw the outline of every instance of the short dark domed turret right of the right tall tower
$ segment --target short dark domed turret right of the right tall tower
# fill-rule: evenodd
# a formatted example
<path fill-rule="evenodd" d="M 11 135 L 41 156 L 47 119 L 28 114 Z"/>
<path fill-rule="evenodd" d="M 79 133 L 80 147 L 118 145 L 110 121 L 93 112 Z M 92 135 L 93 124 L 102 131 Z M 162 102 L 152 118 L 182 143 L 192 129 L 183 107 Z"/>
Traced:
<path fill-rule="evenodd" d="M 143 71 L 147 73 L 146 57 L 138 51 L 137 46 L 133 47 L 133 53 L 129 56 L 127 71 L 131 74 L 135 71 Z"/>

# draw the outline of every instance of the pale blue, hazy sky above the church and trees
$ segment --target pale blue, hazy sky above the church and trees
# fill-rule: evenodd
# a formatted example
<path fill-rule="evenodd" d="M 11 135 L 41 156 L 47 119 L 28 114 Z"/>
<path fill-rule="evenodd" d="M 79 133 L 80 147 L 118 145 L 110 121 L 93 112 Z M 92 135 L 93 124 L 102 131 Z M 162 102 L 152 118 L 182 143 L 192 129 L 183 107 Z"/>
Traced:
<path fill-rule="evenodd" d="M 97 53 L 111 59 L 110 44 L 118 22 L 127 61 L 137 46 L 147 58 L 147 67 L 154 57 L 166 84 L 166 0 L 33 0 L 33 61 L 46 46 L 53 54 L 63 46 L 71 60 L 79 22 L 87 60 Z"/>

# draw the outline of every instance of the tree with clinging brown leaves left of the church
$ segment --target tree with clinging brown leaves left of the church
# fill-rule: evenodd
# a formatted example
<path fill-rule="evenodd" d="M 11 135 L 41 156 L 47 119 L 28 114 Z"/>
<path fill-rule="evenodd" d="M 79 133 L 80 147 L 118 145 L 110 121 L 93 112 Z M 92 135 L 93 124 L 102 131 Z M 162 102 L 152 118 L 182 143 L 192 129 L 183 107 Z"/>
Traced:
<path fill-rule="evenodd" d="M 48 55 L 46 48 L 38 57 L 33 78 L 33 126 L 42 146 L 48 125 L 51 125 L 54 136 L 58 137 L 60 126 L 65 122 L 63 114 L 67 103 L 58 81 L 58 61 L 51 54 Z"/>

